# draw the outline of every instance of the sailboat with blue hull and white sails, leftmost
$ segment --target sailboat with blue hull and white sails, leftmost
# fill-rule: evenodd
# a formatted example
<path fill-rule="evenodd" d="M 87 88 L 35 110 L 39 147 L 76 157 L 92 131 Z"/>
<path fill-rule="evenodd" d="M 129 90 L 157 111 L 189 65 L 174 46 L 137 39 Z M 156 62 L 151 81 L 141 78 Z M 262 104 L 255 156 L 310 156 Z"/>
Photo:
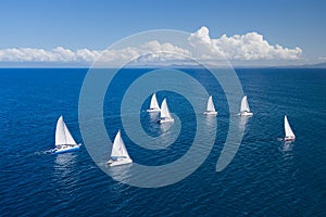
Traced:
<path fill-rule="evenodd" d="M 77 144 L 74 140 L 61 115 L 57 122 L 55 149 L 53 150 L 53 153 L 59 154 L 75 151 L 78 150 L 80 145 L 82 144 Z"/>

